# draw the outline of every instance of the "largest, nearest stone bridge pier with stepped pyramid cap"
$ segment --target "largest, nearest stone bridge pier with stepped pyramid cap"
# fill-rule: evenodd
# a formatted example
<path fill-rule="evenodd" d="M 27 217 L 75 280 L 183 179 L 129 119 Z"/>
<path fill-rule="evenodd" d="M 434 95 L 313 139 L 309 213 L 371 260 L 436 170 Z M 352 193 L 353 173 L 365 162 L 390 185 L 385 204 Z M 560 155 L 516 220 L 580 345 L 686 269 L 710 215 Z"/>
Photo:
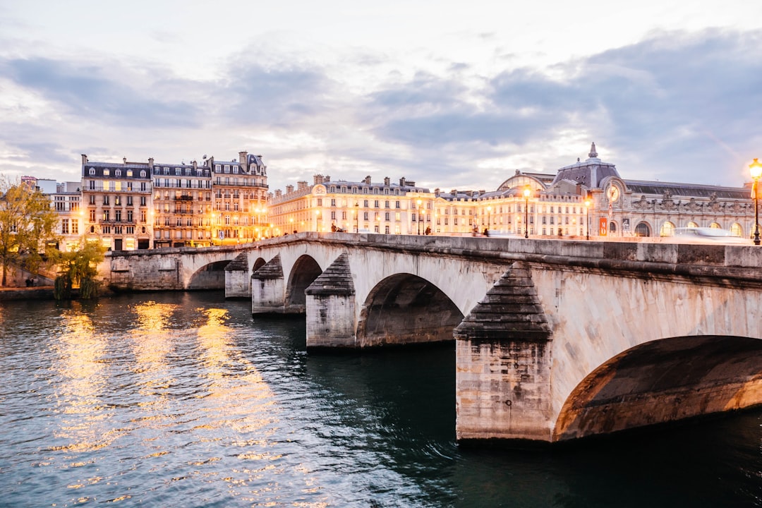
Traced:
<path fill-rule="evenodd" d="M 550 441 L 551 331 L 514 263 L 454 332 L 456 438 Z"/>

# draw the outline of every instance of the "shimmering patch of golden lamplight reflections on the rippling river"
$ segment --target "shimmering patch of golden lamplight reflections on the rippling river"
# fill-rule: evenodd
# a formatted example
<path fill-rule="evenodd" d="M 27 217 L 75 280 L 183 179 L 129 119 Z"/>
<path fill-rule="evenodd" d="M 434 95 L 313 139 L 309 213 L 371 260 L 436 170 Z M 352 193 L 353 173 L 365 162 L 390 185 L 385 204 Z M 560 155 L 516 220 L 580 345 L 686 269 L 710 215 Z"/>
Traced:
<path fill-rule="evenodd" d="M 55 400 L 57 410 L 69 417 L 62 420 L 56 432 L 59 443 L 50 450 L 66 454 L 69 462 L 59 468 L 82 471 L 80 478 L 71 478 L 69 489 L 84 494 L 88 486 L 113 479 L 92 474 L 100 458 L 94 463 L 78 454 L 101 450 L 103 455 L 110 447 L 132 446 L 138 437 L 145 451 L 129 455 L 152 474 L 162 474 L 176 460 L 172 457 L 183 457 L 188 444 L 217 442 L 226 448 L 225 455 L 219 446 L 194 448 L 208 455 L 193 452 L 185 462 L 189 474 L 172 481 L 222 481 L 239 500 L 282 506 L 281 493 L 293 485 L 280 485 L 277 478 L 293 481 L 290 470 L 303 478 L 305 494 L 315 494 L 311 468 L 288 464 L 282 453 L 274 452 L 273 436 L 281 427 L 277 398 L 236 343 L 228 311 L 197 308 L 195 318 L 182 318 L 187 328 L 178 328 L 173 321 L 178 308 L 157 302 L 132 305 L 120 318 L 132 326 L 116 332 L 101 330 L 78 305 L 63 313 L 56 341 Z M 115 385 L 117 375 L 125 377 Z M 180 434 L 189 441 L 178 448 L 183 442 L 167 437 Z M 130 498 L 118 490 L 114 494 L 118 497 L 109 502 Z"/>

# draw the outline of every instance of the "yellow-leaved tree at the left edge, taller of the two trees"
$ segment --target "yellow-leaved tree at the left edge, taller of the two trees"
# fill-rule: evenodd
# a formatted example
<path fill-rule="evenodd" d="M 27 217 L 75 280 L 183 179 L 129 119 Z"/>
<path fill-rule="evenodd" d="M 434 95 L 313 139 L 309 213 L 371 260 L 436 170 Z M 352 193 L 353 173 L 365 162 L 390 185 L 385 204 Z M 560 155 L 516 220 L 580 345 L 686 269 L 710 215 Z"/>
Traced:
<path fill-rule="evenodd" d="M 56 240 L 57 223 L 58 214 L 40 190 L 0 175 L 2 286 L 7 283 L 11 264 L 19 264 L 32 273 L 39 270 L 42 254 L 50 251 L 48 244 Z"/>

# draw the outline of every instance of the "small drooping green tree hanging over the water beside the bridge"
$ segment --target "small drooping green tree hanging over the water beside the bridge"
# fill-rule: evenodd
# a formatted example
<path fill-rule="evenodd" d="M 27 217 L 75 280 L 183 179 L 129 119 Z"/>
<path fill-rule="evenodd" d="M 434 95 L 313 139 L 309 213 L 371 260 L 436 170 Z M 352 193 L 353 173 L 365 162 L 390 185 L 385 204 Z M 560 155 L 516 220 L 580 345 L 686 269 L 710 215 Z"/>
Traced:
<path fill-rule="evenodd" d="M 105 259 L 106 248 L 100 241 L 88 241 L 82 237 L 79 248 L 74 251 L 56 251 L 51 260 L 59 268 L 53 295 L 58 300 L 69 299 L 72 288 L 79 286 L 79 296 L 91 299 L 98 296 L 98 264 Z"/>

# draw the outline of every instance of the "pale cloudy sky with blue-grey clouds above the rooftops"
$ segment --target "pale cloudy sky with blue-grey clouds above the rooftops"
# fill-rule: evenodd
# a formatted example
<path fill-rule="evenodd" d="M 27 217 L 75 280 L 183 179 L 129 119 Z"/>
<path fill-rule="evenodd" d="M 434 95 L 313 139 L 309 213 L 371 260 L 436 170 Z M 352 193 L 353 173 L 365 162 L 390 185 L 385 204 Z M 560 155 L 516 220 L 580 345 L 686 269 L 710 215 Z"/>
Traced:
<path fill-rule="evenodd" d="M 762 2 L 0 0 L 0 173 L 261 154 L 444 190 L 600 158 L 737 186 L 762 158 Z"/>

